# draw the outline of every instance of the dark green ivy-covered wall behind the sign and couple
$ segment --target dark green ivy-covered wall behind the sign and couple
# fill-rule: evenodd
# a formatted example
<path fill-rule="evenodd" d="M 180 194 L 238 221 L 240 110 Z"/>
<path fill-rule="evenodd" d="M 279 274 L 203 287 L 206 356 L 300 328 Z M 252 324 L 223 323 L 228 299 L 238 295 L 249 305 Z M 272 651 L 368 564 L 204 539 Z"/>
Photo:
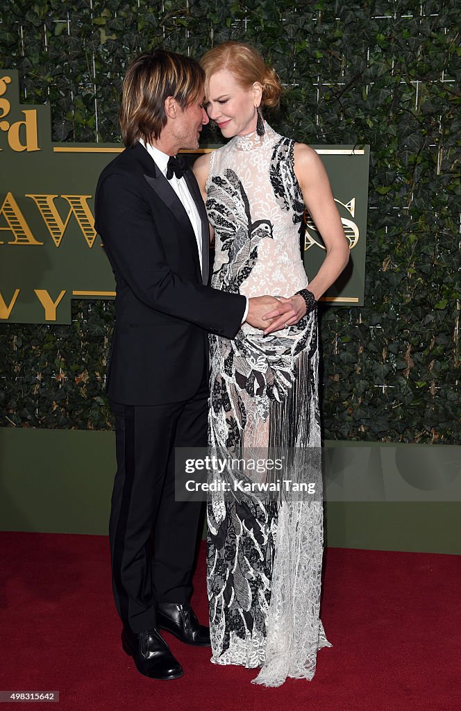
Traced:
<path fill-rule="evenodd" d="M 3 0 L 0 67 L 19 70 L 23 103 L 51 104 L 54 140 L 118 141 L 135 54 L 258 47 L 286 85 L 277 130 L 371 145 L 366 306 L 321 315 L 325 437 L 457 444 L 457 21 L 455 0 Z M 112 319 L 110 302 L 75 301 L 71 326 L 1 324 L 0 425 L 109 429 Z"/>

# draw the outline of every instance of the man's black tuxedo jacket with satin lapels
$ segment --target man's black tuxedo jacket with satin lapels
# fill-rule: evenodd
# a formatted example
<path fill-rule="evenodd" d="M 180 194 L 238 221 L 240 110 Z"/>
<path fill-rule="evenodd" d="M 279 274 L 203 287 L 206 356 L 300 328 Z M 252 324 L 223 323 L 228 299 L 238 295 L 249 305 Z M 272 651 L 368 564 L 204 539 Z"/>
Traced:
<path fill-rule="evenodd" d="M 186 210 L 142 144 L 97 183 L 95 228 L 117 282 L 107 392 L 125 405 L 188 400 L 207 362 L 207 331 L 233 338 L 243 318 L 244 296 L 205 285 L 208 220 L 191 170 L 185 178 L 202 221 L 203 277 Z"/>

